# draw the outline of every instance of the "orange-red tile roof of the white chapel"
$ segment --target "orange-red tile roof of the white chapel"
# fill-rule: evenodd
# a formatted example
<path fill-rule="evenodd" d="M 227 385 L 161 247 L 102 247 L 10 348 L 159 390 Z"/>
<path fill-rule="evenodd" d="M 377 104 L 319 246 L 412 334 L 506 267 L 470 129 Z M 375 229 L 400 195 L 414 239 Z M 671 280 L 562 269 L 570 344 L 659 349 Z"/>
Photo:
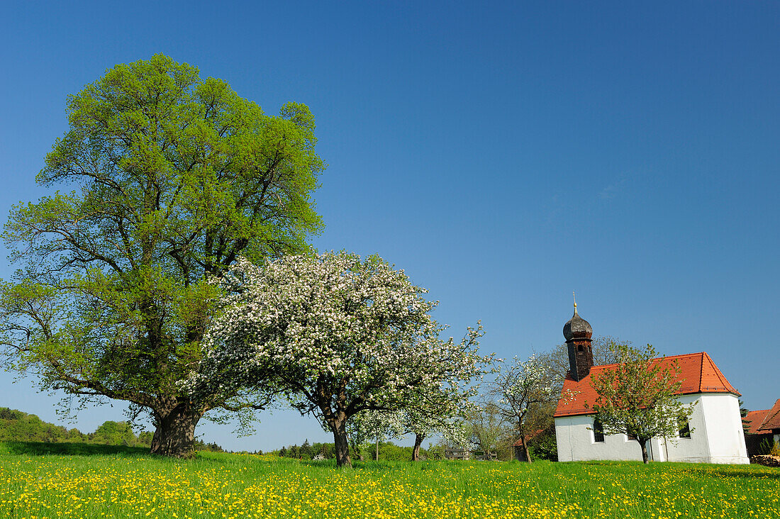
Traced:
<path fill-rule="evenodd" d="M 718 369 L 718 366 L 712 361 L 705 352 L 697 354 L 672 355 L 671 357 L 661 357 L 653 359 L 654 362 L 660 362 L 662 367 L 672 365 L 676 361 L 680 368 L 680 379 L 683 385 L 680 386 L 677 394 L 688 395 L 693 393 L 733 393 L 739 396 L 739 392 L 732 386 L 725 376 Z M 576 414 L 593 414 L 593 410 L 585 407 L 587 402 L 592 406 L 597 399 L 596 390 L 590 386 L 590 377 L 598 375 L 602 371 L 615 368 L 618 364 L 605 364 L 603 366 L 594 366 L 590 368 L 590 373 L 580 382 L 576 382 L 571 375 L 566 375 L 563 381 L 563 394 L 573 395 L 569 399 L 562 398 L 558 400 L 558 407 L 553 416 L 572 416 Z M 780 411 L 780 407 L 778 407 Z M 780 418 L 780 412 L 778 412 Z"/>

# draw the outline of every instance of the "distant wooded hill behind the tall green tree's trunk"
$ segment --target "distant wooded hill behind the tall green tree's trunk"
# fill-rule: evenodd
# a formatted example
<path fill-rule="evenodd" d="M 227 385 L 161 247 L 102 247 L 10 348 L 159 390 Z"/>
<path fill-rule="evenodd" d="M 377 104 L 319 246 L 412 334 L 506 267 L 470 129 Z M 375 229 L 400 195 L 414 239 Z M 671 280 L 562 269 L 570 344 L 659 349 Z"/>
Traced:
<path fill-rule="evenodd" d="M 50 424 L 34 414 L 0 407 L 0 442 L 94 443 L 131 447 L 151 446 L 153 434 L 142 431 L 138 435 L 128 421 L 105 421 L 95 432 L 83 433 L 76 428 Z M 196 441 L 195 450 L 222 452 L 216 443 Z"/>

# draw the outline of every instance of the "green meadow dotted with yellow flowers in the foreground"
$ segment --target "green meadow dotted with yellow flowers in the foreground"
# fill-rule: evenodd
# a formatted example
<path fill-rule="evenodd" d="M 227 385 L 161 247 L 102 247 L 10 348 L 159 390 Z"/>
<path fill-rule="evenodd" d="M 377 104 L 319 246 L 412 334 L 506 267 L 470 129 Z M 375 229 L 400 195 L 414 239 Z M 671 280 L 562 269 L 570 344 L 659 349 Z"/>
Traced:
<path fill-rule="evenodd" d="M 328 462 L 0 443 L 0 517 L 780 517 L 780 469 Z"/>

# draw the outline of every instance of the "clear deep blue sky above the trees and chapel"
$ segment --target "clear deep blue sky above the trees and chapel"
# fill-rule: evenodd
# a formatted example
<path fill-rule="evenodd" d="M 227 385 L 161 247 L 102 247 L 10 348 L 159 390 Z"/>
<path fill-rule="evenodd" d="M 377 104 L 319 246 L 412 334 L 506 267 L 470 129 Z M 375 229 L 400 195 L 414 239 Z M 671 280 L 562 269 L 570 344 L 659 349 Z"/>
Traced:
<path fill-rule="evenodd" d="M 485 5 L 483 5 L 485 4 Z M 157 52 L 275 113 L 317 118 L 321 250 L 380 254 L 460 336 L 562 343 L 576 290 L 596 335 L 707 351 L 746 407 L 780 398 L 780 7 L 769 2 L 6 2 L 0 219 L 34 201 L 68 94 Z M 0 262 L 0 277 L 12 266 Z M 0 406 L 59 396 L 0 373 Z M 89 408 L 91 431 L 122 405 Z M 73 426 L 70 425 L 69 426 Z M 326 440 L 261 416 L 268 450 Z"/>

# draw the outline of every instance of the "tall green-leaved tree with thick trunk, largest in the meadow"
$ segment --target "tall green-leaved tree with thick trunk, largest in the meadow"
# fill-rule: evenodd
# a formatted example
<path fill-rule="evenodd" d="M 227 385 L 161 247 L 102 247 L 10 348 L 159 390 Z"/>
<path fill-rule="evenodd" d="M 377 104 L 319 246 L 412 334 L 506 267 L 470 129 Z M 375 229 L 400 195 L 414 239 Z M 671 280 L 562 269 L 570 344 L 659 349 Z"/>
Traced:
<path fill-rule="evenodd" d="M 147 412 L 152 452 L 186 455 L 206 411 L 262 405 L 196 399 L 180 381 L 214 317 L 209 279 L 239 254 L 305 251 L 320 231 L 314 118 L 297 103 L 268 116 L 164 55 L 109 69 L 67 114 L 37 182 L 71 190 L 14 207 L 5 224 L 20 269 L 0 291 L 2 343 L 48 389 Z"/>

